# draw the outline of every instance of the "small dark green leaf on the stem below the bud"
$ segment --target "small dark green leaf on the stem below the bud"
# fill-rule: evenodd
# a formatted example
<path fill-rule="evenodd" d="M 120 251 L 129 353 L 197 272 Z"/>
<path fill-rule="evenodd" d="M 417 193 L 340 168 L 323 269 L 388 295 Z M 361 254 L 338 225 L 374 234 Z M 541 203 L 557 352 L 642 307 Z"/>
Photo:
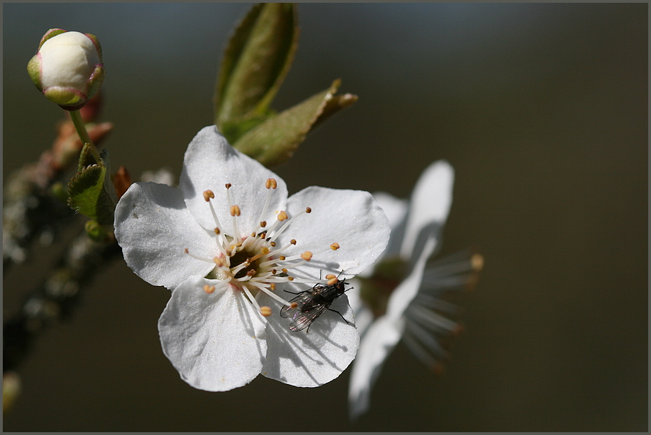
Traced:
<path fill-rule="evenodd" d="M 82 148 L 79 171 L 68 183 L 68 205 L 98 224 L 112 227 L 117 195 L 111 181 L 108 152 L 102 151 L 99 162 L 86 166 L 89 147 L 85 144 Z"/>

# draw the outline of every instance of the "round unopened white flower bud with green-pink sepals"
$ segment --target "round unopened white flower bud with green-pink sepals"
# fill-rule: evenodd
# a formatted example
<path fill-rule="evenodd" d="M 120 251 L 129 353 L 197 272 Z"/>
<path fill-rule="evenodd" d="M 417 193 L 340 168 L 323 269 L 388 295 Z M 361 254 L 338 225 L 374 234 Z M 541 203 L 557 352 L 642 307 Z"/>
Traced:
<path fill-rule="evenodd" d="M 50 29 L 27 64 L 31 81 L 66 110 L 83 107 L 104 80 L 102 47 L 90 33 Z"/>

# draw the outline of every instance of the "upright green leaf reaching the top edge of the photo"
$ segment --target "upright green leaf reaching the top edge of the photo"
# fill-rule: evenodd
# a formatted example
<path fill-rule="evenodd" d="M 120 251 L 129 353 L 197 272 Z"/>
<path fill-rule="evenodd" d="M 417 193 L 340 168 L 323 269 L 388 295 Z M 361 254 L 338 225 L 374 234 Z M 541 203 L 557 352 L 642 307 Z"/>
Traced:
<path fill-rule="evenodd" d="M 292 3 L 260 3 L 231 37 L 215 89 L 215 124 L 236 142 L 271 116 L 269 105 L 283 83 L 298 46 Z"/>

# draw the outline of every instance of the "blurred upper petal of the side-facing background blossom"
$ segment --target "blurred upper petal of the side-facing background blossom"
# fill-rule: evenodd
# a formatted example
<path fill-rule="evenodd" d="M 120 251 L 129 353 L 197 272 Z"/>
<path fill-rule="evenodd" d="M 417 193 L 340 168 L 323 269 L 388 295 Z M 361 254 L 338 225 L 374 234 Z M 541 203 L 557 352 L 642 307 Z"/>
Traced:
<path fill-rule="evenodd" d="M 444 160 L 423 171 L 412 192 L 401 257 L 412 257 L 428 234 L 438 234 L 450 211 L 453 184 L 454 169 Z"/>

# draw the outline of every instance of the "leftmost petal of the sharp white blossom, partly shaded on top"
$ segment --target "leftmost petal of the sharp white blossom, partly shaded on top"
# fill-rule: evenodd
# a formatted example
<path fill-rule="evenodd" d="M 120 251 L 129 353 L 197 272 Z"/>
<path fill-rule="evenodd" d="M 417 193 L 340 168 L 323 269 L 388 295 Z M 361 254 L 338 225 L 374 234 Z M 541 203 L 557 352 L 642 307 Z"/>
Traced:
<path fill-rule="evenodd" d="M 149 284 L 174 289 L 187 277 L 204 277 L 214 264 L 214 238 L 190 215 L 181 190 L 156 183 L 133 183 L 115 208 L 115 238 L 126 264 Z"/>

